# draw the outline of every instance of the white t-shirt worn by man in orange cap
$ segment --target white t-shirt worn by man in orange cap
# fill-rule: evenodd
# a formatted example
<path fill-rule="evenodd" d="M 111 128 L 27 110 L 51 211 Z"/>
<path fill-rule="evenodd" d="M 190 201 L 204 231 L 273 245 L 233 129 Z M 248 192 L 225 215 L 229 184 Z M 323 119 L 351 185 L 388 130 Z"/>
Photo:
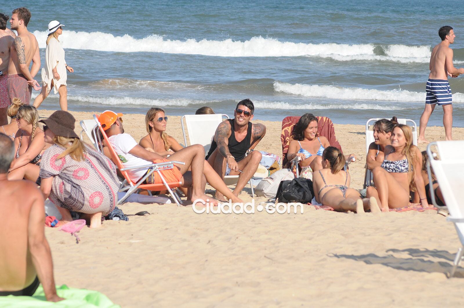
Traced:
<path fill-rule="evenodd" d="M 129 134 L 118 134 L 113 135 L 108 138 L 111 145 L 115 149 L 116 154 L 119 156 L 119 159 L 122 162 L 124 168 L 145 166 L 153 164 L 153 161 L 144 160 L 138 156 L 132 155 L 129 153 L 138 143 L 132 138 Z M 127 170 L 129 178 L 133 181 L 139 180 L 142 176 L 147 173 L 148 168 L 138 168 Z"/>

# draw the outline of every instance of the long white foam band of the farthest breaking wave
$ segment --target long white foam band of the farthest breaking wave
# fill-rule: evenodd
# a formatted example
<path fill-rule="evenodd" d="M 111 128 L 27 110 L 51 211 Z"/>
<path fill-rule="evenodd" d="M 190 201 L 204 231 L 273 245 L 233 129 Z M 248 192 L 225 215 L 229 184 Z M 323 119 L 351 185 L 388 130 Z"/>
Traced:
<path fill-rule="evenodd" d="M 45 48 L 47 32 L 35 31 L 40 48 Z M 164 52 L 200 54 L 219 57 L 296 57 L 311 56 L 349 60 L 388 60 L 399 62 L 428 62 L 430 46 L 374 45 L 374 44 L 306 44 L 281 42 L 277 39 L 253 37 L 246 41 L 186 39 L 171 40 L 152 34 L 135 39 L 129 34 L 114 36 L 103 32 L 64 31 L 60 36 L 64 48 L 119 51 L 119 52 Z M 385 55 L 377 55 L 376 48 Z M 381 53 L 381 52 L 380 52 Z"/>

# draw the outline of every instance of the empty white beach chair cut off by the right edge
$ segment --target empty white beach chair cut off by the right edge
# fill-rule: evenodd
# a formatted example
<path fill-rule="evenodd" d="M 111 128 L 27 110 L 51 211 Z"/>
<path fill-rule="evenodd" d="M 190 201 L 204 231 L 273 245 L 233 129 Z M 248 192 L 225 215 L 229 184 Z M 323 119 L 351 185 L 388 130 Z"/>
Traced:
<path fill-rule="evenodd" d="M 432 147 L 436 147 L 437 151 L 432 152 Z M 447 221 L 454 223 L 458 232 L 459 240 L 464 245 L 464 141 L 435 141 L 427 146 L 427 172 L 429 175 L 429 183 L 432 183 L 432 173 L 435 173 L 435 178 L 438 181 L 440 190 L 443 193 L 446 207 L 450 212 Z M 430 195 L 433 205 L 440 208 L 435 202 L 435 193 L 433 185 L 430 186 Z M 460 247 L 456 257 L 454 258 L 453 268 L 451 269 L 449 278 L 454 276 L 456 268 L 461 262 L 464 255 L 464 247 Z"/>

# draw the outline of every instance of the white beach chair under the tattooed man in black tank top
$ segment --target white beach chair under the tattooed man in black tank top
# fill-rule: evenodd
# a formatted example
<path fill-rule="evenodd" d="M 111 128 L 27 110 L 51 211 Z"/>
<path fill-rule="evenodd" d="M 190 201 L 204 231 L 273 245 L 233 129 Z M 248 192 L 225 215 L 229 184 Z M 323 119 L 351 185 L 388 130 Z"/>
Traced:
<path fill-rule="evenodd" d="M 201 144 L 205 147 L 205 154 L 208 153 L 209 149 L 211 148 L 211 142 L 213 141 L 214 133 L 216 132 L 216 128 L 218 125 L 224 120 L 223 117 L 228 119 L 227 115 L 183 115 L 180 118 L 180 124 L 182 126 L 182 134 L 184 135 L 184 143 L 187 147 L 188 145 L 192 144 Z M 184 127 L 184 119 L 185 119 L 185 126 L 187 126 L 187 133 L 188 133 L 188 141 L 187 144 L 187 134 L 186 128 Z M 226 175 L 224 177 L 224 183 L 226 185 L 236 185 L 238 181 L 238 175 Z M 251 180 L 248 182 L 251 186 L 251 197 L 255 196 L 255 191 L 253 189 L 253 185 L 251 184 Z"/>

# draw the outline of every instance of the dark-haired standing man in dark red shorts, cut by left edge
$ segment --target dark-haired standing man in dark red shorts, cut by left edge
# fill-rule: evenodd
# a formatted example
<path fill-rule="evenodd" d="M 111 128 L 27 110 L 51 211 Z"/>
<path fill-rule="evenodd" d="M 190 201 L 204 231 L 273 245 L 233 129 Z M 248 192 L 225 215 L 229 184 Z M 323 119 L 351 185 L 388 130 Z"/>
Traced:
<path fill-rule="evenodd" d="M 13 45 L 14 36 L 11 36 L 11 31 L 6 31 L 9 30 L 6 28 L 8 18 L 9 16 L 0 13 L 0 125 L 8 124 L 6 110 L 11 104 L 8 90 L 6 90 L 6 80 L 8 79 L 8 63 L 10 61 L 10 49 Z"/>

